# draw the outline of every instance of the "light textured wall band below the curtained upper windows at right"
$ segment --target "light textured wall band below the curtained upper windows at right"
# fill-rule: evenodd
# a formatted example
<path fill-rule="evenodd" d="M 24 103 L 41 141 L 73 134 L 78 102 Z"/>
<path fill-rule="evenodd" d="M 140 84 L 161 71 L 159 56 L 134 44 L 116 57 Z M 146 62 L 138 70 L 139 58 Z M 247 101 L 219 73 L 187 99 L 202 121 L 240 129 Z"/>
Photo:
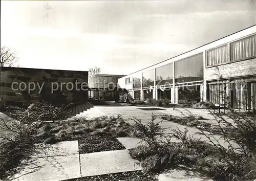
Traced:
<path fill-rule="evenodd" d="M 256 58 L 206 68 L 205 80 L 256 75 Z"/>

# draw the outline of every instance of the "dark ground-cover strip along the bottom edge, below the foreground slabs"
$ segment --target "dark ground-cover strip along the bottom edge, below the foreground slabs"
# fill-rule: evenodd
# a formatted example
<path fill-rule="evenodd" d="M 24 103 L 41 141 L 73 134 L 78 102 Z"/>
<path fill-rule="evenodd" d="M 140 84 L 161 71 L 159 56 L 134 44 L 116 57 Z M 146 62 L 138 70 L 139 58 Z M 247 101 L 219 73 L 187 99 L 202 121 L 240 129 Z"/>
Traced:
<path fill-rule="evenodd" d="M 121 180 L 133 180 L 133 181 L 157 181 L 157 174 L 155 173 L 144 173 L 141 170 L 131 172 L 121 172 L 105 175 L 88 176 L 82 178 L 74 178 L 64 181 L 121 181 Z"/>

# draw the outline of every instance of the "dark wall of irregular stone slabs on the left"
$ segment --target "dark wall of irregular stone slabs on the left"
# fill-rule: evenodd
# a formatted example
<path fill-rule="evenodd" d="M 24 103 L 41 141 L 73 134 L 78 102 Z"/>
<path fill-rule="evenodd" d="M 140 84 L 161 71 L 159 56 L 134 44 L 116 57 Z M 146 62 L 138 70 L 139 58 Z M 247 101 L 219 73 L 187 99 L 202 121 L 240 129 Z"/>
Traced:
<path fill-rule="evenodd" d="M 88 90 L 84 89 L 88 88 L 88 72 L 1 67 L 0 88 L 1 99 L 7 105 L 26 107 L 41 100 L 86 102 Z"/>

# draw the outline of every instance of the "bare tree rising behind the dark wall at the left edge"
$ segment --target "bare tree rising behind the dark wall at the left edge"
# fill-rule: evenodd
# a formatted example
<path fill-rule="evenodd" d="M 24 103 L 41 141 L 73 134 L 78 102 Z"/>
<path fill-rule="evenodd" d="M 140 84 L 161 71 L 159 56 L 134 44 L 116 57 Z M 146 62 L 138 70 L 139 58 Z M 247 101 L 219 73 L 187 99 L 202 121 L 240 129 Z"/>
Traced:
<path fill-rule="evenodd" d="M 12 51 L 10 48 L 4 46 L 1 47 L 1 67 L 2 66 L 13 66 L 18 61 L 16 52 Z"/>

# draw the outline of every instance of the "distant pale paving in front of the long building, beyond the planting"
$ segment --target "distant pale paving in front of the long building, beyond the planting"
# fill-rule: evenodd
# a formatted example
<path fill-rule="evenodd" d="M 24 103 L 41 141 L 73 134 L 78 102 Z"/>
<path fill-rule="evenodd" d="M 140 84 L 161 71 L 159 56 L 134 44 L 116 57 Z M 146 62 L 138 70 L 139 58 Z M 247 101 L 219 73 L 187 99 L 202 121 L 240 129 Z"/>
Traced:
<path fill-rule="evenodd" d="M 134 124 L 134 121 L 132 119 L 133 117 L 135 117 L 137 119 L 141 119 L 142 124 L 147 124 L 148 121 L 152 118 L 151 117 L 152 113 L 154 115 L 167 114 L 167 115 L 173 115 L 173 116 L 179 116 L 179 117 L 186 116 L 191 113 L 194 115 L 203 116 L 203 118 L 207 119 L 207 120 L 201 120 L 201 121 L 205 121 L 205 122 L 212 123 L 212 124 L 217 122 L 214 119 L 214 116 L 210 115 L 208 110 L 206 110 L 206 109 L 163 108 L 165 110 L 142 110 L 139 108 L 143 108 L 143 107 L 135 107 L 135 106 L 123 106 L 123 107 L 97 107 L 97 106 L 95 106 L 95 108 L 97 108 L 104 115 L 108 115 L 108 116 L 121 115 L 121 116 L 123 116 L 123 119 L 125 120 L 125 122 L 130 123 L 130 124 Z M 146 107 L 146 108 L 148 108 L 148 107 Z M 81 114 L 80 116 L 83 116 L 84 114 Z M 160 118 L 157 118 L 156 121 L 162 121 L 160 123 L 160 125 L 166 129 L 165 130 L 166 134 L 173 133 L 172 129 L 177 129 L 177 128 L 179 128 L 181 131 L 184 131 L 184 129 L 186 127 L 184 125 L 180 125 L 178 123 L 174 123 L 171 121 L 161 120 Z M 190 136 L 193 135 L 194 138 L 201 139 L 201 141 L 207 141 L 207 142 L 209 141 L 208 138 L 205 137 L 205 135 L 203 135 L 199 129 L 191 128 L 191 127 L 187 127 L 187 129 L 188 129 L 187 135 L 190 135 Z M 208 136 L 210 136 L 209 132 L 205 131 L 205 133 Z M 224 141 L 224 139 L 221 138 L 220 135 L 215 135 L 215 139 L 211 138 L 211 141 L 214 143 L 219 142 L 223 147 L 228 149 L 229 144 L 226 143 Z M 238 147 L 238 145 L 236 143 L 232 142 L 232 144 L 234 147 Z"/>

